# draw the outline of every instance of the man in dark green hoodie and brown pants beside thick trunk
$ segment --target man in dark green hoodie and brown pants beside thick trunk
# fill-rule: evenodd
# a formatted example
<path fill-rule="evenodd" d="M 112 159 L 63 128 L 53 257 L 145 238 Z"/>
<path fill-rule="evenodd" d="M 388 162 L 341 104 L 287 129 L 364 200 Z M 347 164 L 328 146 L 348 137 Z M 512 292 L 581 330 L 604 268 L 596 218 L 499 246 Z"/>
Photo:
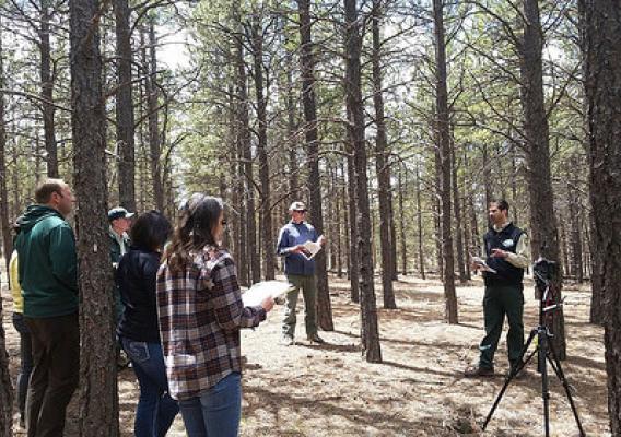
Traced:
<path fill-rule="evenodd" d="M 26 429 L 28 437 L 61 436 L 80 370 L 75 237 L 65 220 L 75 200 L 65 181 L 47 179 L 35 201 L 15 241 L 34 361 Z"/>

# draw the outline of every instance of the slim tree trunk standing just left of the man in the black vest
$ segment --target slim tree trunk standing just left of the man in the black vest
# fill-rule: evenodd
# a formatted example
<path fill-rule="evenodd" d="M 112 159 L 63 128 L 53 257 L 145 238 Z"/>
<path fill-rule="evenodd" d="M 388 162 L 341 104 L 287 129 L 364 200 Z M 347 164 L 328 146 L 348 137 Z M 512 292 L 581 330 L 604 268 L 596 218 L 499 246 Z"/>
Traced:
<path fill-rule="evenodd" d="M 444 298 L 446 319 L 457 323 L 457 295 L 455 293 L 455 259 L 453 255 L 453 229 L 450 225 L 450 131 L 448 120 L 448 93 L 446 90 L 446 43 L 444 40 L 443 1 L 433 0 L 435 35 L 435 101 L 437 110 L 437 139 L 441 168 L 441 217 L 442 252 L 444 258 Z"/>

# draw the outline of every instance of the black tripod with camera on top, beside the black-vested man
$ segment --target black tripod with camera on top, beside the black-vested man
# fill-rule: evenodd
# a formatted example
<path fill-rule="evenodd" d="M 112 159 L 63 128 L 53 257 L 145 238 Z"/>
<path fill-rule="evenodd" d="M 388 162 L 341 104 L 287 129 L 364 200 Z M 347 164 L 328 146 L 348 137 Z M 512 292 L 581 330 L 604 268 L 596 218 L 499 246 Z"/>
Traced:
<path fill-rule="evenodd" d="M 584 429 L 582 427 L 582 423 L 578 417 L 578 412 L 576 410 L 576 405 L 574 404 L 574 400 L 572 398 L 570 383 L 565 378 L 565 374 L 563 373 L 563 368 L 561 367 L 561 363 L 558 358 L 558 355 L 554 351 L 554 346 L 551 342 L 553 335 L 546 326 L 546 317 L 548 315 L 551 316 L 552 311 L 560 309 L 563 304 L 554 303 L 553 285 L 551 281 L 542 277 L 537 271 L 535 271 L 535 275 L 538 276 L 536 277 L 538 280 L 538 284 L 544 284 L 544 291 L 543 293 L 541 293 L 539 299 L 539 324 L 537 326 L 537 328 L 530 331 L 528 340 L 526 341 L 522 350 L 522 354 L 519 355 L 518 364 L 511 368 L 511 373 L 508 377 L 505 379 L 504 386 L 499 392 L 494 401 L 494 404 L 492 405 L 492 409 L 490 410 L 488 417 L 485 418 L 485 422 L 483 422 L 482 429 L 485 430 L 485 427 L 492 420 L 492 415 L 494 414 L 494 411 L 499 406 L 502 397 L 505 393 L 506 389 L 508 388 L 511 381 L 522 371 L 524 367 L 526 367 L 526 365 L 537 354 L 537 370 L 541 374 L 541 398 L 543 399 L 543 427 L 546 429 L 546 437 L 550 436 L 550 406 L 549 406 L 550 391 L 548 387 L 547 363 L 550 363 L 550 367 L 552 367 L 552 369 L 556 374 L 556 377 L 563 385 L 563 388 L 565 389 L 565 395 L 567 398 L 567 401 L 570 402 L 572 412 L 574 413 L 574 418 L 576 421 L 579 435 L 581 437 L 585 437 L 586 434 L 584 433 Z M 528 346 L 530 346 L 530 343 L 532 343 L 535 339 L 537 339 L 537 346 L 525 358 L 525 355 L 528 351 Z"/>

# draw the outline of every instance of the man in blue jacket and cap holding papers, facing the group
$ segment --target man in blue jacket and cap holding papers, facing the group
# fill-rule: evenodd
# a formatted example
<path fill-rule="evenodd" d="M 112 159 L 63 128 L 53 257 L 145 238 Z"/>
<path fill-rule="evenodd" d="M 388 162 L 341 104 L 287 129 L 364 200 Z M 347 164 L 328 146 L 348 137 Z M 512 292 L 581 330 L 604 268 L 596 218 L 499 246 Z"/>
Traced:
<path fill-rule="evenodd" d="M 289 206 L 291 222 L 280 229 L 277 253 L 284 257 L 284 274 L 294 288 L 286 294 L 284 319 L 282 323 L 282 342 L 293 345 L 295 334 L 295 307 L 300 288 L 304 295 L 306 307 L 306 336 L 310 342 L 324 343 L 317 334 L 317 285 L 315 280 L 315 260 L 305 256 L 304 244 L 308 240 L 324 244 L 313 225 L 305 222 L 306 205 L 295 201 Z M 318 241 L 319 240 L 319 241 Z"/>

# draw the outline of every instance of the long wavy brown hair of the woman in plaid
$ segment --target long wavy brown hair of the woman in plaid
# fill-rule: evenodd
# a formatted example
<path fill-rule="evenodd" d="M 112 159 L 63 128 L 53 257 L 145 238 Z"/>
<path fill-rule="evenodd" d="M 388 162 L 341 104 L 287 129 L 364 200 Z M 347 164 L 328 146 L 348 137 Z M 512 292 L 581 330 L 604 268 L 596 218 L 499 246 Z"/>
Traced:
<path fill-rule="evenodd" d="M 198 192 L 181 203 L 173 239 L 163 257 L 172 272 L 186 271 L 192 263 L 192 252 L 206 246 L 218 246 L 211 232 L 223 209 L 222 199 Z"/>

